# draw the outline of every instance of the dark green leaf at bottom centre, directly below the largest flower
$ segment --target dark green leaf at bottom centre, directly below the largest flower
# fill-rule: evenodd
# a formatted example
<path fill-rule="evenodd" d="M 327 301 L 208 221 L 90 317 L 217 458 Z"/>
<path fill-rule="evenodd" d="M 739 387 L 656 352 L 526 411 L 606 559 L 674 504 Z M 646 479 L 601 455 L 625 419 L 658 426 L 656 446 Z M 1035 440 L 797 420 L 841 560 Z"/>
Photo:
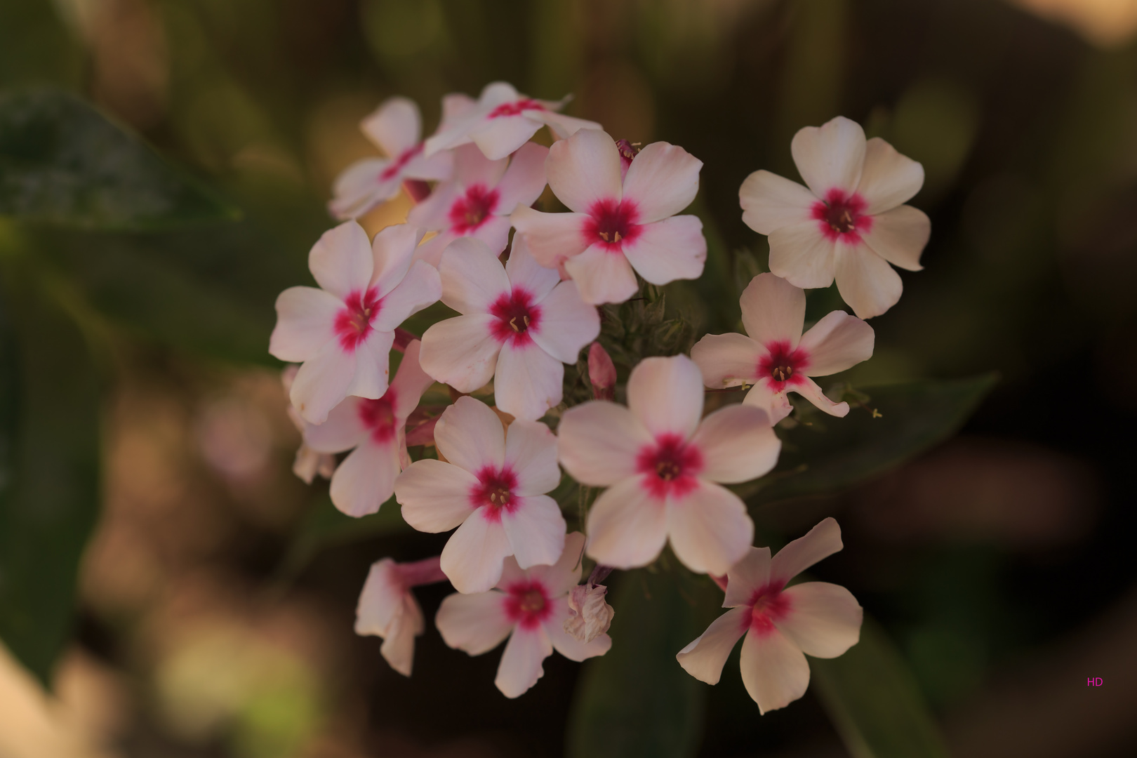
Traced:
<path fill-rule="evenodd" d="M 568 717 L 568 758 L 688 758 L 699 748 L 706 690 L 675 653 L 708 608 L 682 572 L 624 574 L 612 600 L 612 650 L 586 664 Z M 712 614 L 713 615 L 713 614 Z"/>

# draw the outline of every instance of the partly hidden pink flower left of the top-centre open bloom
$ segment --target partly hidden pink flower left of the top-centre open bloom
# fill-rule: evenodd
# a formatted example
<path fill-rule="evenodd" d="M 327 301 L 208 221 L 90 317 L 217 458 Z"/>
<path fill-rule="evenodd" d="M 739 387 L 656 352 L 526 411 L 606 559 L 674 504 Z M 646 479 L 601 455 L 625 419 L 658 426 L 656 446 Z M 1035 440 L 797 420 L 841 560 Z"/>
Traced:
<path fill-rule="evenodd" d="M 548 152 L 533 142 L 501 160 L 487 159 L 473 145 L 455 150 L 454 178 L 434 188 L 407 216 L 412 226 L 438 232 L 415 257 L 438 266 L 442 250 L 463 236 L 481 240 L 495 255 L 505 250 L 509 214 L 518 205 L 532 205 L 545 190 Z"/>

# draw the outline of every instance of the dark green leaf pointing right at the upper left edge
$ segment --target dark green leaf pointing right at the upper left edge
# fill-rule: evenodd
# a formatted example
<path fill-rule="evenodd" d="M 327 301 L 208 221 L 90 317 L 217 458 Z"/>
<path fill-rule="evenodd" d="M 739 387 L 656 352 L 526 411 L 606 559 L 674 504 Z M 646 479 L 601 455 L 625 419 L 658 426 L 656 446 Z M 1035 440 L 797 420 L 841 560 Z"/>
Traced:
<path fill-rule="evenodd" d="M 78 98 L 0 98 L 0 216 L 99 230 L 233 220 L 240 211 Z"/>

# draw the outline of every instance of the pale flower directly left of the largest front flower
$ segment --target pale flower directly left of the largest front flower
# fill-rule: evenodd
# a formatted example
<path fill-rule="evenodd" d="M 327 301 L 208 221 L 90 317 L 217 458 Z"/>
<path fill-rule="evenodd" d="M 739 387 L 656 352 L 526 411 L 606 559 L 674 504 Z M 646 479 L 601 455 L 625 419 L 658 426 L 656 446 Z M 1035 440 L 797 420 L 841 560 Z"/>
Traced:
<path fill-rule="evenodd" d="M 458 527 L 442 550 L 442 570 L 458 592 L 493 586 L 506 556 L 525 568 L 556 561 L 565 519 L 545 494 L 561 482 L 547 426 L 518 419 L 506 433 L 489 406 L 462 397 L 442 411 L 434 443 L 446 461 L 410 464 L 395 498 L 420 532 Z"/>

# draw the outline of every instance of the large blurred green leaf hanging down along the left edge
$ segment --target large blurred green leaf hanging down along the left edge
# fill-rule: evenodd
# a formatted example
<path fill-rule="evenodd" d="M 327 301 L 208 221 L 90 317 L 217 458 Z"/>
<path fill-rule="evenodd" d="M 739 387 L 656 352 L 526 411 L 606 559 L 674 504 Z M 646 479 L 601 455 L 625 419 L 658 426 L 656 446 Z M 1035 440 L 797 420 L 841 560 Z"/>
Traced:
<path fill-rule="evenodd" d="M 6 291 L 0 336 L 0 639 L 44 684 L 70 638 L 99 505 L 99 381 L 75 323 Z"/>

